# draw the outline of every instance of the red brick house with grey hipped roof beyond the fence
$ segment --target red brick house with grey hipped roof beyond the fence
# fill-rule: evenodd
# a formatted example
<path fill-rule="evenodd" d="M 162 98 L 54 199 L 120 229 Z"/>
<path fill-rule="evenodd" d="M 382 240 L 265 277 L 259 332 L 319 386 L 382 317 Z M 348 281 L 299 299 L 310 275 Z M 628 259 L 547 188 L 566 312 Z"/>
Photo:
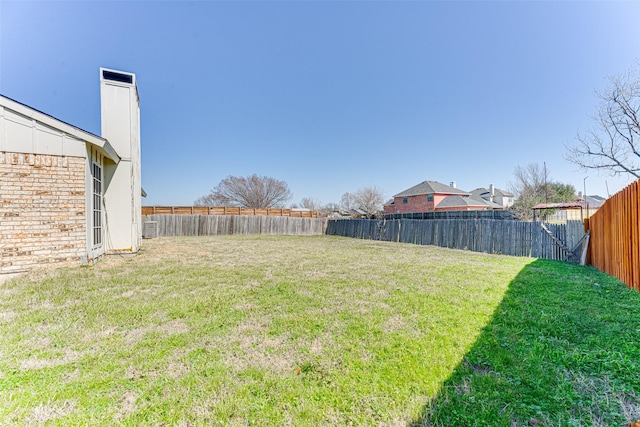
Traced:
<path fill-rule="evenodd" d="M 437 181 L 424 181 L 393 196 L 393 200 L 384 206 L 384 213 L 472 211 L 500 208 L 500 205 L 487 202 L 471 193 L 460 190 L 456 187 L 455 182 L 446 185 Z"/>

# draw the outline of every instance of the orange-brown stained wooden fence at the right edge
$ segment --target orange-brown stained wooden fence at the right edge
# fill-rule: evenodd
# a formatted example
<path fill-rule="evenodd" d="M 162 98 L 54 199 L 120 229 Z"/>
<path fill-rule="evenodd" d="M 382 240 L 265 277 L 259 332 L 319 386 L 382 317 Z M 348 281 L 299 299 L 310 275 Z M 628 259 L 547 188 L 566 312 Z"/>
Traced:
<path fill-rule="evenodd" d="M 640 291 L 640 180 L 607 199 L 586 226 L 590 264 Z"/>

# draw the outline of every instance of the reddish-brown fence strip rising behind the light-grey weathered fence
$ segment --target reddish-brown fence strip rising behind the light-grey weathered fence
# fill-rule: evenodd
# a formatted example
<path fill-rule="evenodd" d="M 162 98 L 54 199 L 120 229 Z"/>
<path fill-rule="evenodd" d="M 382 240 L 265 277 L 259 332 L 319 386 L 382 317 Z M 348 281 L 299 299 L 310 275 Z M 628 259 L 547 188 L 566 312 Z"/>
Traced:
<path fill-rule="evenodd" d="M 143 206 L 142 215 L 263 215 L 317 218 L 317 211 L 297 209 L 253 209 L 229 206 Z"/>

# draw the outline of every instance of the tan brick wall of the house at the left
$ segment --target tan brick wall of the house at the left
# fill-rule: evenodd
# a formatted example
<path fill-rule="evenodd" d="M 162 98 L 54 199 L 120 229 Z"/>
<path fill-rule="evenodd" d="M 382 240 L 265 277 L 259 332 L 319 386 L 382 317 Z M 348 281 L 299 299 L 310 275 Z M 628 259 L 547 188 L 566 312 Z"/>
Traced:
<path fill-rule="evenodd" d="M 0 273 L 86 256 L 85 159 L 0 152 Z"/>

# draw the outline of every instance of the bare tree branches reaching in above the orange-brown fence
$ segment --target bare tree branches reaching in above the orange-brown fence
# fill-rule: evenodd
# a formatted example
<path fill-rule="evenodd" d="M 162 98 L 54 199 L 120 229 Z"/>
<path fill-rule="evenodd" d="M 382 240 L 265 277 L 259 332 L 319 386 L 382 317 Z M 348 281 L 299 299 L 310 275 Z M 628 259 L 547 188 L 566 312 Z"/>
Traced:
<path fill-rule="evenodd" d="M 583 169 L 640 178 L 640 67 L 609 81 L 597 94 L 600 108 L 594 128 L 578 135 L 566 158 Z"/>

